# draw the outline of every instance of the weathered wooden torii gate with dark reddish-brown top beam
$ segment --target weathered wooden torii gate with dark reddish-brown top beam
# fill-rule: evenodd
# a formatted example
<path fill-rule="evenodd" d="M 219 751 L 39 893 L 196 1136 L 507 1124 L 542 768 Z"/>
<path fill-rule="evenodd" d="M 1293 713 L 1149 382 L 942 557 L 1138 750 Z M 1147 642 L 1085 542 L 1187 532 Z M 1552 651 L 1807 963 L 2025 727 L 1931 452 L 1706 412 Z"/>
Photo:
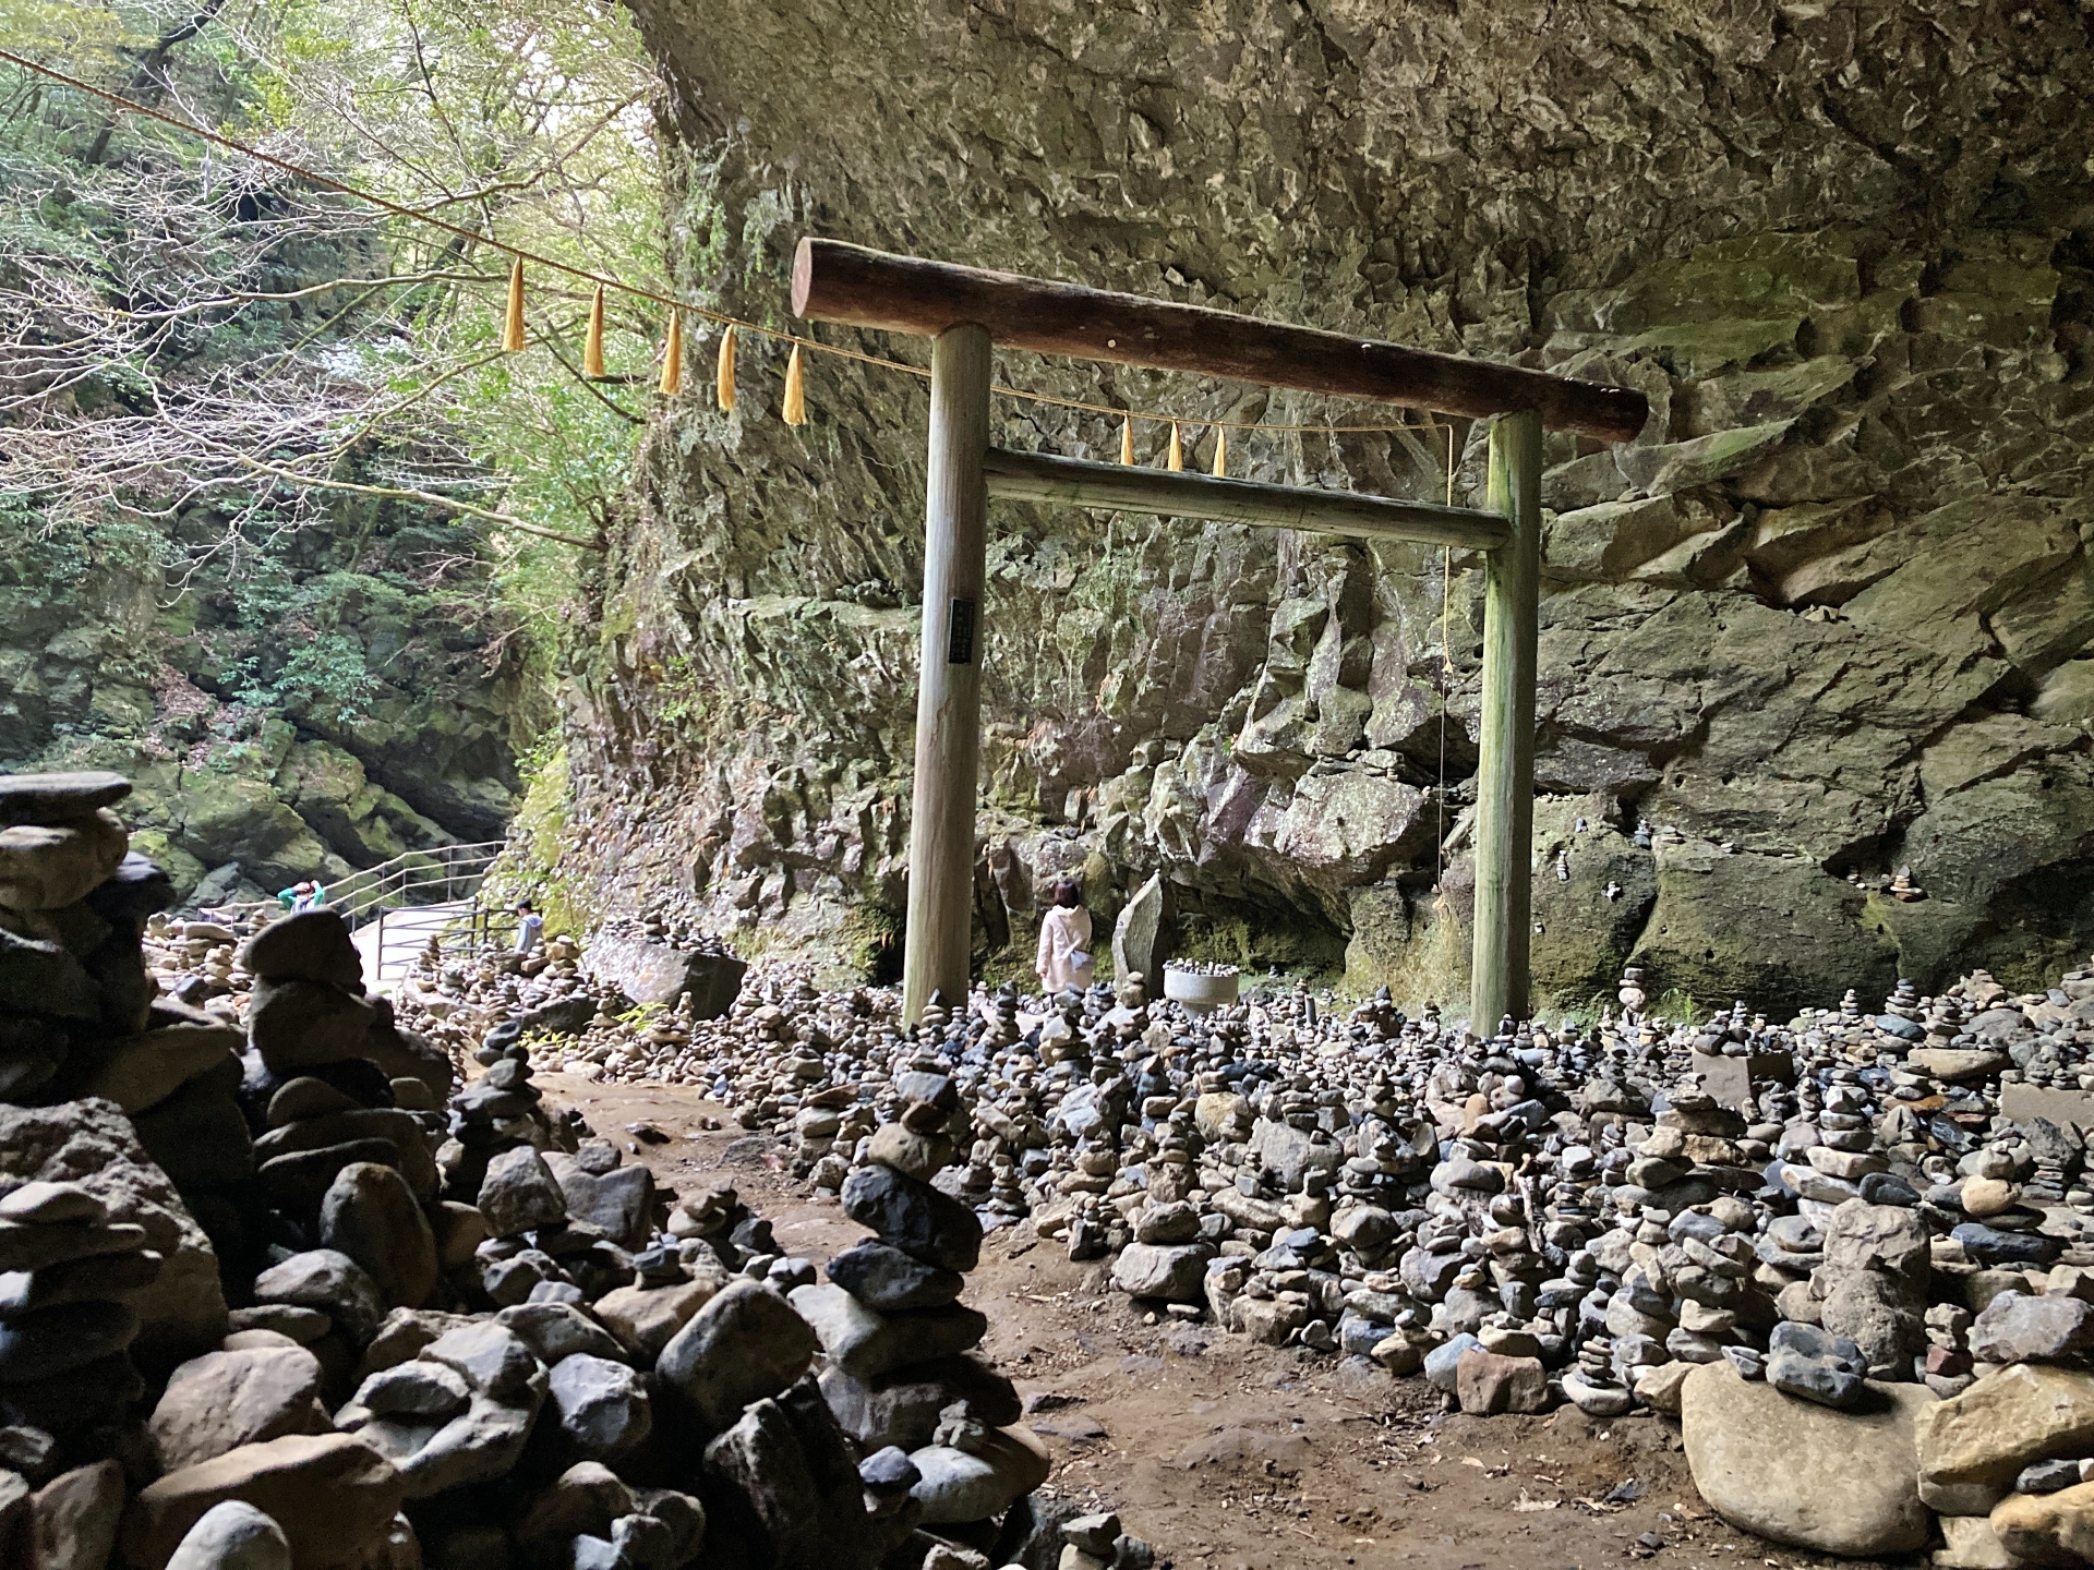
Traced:
<path fill-rule="evenodd" d="M 967 994 L 990 496 L 1489 553 L 1470 1028 L 1485 1034 L 1501 1015 L 1527 1013 L 1541 431 L 1627 442 L 1650 412 L 1644 394 L 821 239 L 800 241 L 792 306 L 808 320 L 932 339 L 923 678 L 903 959 L 903 1009 L 911 1024 L 932 992 L 951 1001 Z M 1491 504 L 1489 511 L 1436 507 L 990 448 L 990 347 L 997 343 L 1489 417 Z"/>

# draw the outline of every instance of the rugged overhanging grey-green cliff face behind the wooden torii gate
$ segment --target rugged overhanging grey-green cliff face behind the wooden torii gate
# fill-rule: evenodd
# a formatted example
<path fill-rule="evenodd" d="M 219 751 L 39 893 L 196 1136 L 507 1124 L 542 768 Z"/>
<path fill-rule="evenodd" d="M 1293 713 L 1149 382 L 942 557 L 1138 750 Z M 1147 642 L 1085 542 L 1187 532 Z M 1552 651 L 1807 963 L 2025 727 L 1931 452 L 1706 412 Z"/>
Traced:
<path fill-rule="evenodd" d="M 1635 957 L 1788 1007 L 1956 961 L 2019 984 L 2094 940 L 2090 13 L 628 2 L 693 297 L 783 324 L 821 232 L 1650 394 L 1633 444 L 1547 446 L 1545 992 Z M 823 358 L 787 429 L 781 368 L 748 343 L 735 414 L 693 391 L 653 435 L 572 714 L 578 854 L 603 906 L 865 940 L 900 911 L 926 396 Z M 999 373 L 1181 414 L 1196 463 L 1202 419 L 1397 419 Z M 1112 456 L 1118 423 L 1003 400 L 995 440 Z M 1160 461 L 1164 427 L 1137 440 Z M 1441 496 L 1447 442 L 1231 438 L 1231 469 Z M 1453 442 L 1480 502 L 1483 429 Z M 1357 982 L 1451 994 L 1474 563 L 993 528 L 984 942 L 1062 869 L 1110 913 L 1160 867 L 1194 938 L 1346 944 Z M 1926 900 L 1883 890 L 1906 865 Z"/>

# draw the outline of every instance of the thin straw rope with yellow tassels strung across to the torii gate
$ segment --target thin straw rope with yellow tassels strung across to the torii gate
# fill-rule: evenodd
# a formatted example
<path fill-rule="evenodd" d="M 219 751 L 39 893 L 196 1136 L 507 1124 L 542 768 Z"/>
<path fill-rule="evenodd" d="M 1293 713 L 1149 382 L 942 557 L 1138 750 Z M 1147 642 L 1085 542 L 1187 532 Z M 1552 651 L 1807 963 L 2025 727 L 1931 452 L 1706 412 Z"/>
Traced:
<path fill-rule="evenodd" d="M 597 291 L 595 297 L 593 297 L 593 304 L 591 304 L 591 341 L 595 345 L 595 356 L 601 356 L 601 333 L 603 333 L 603 327 L 601 327 L 603 299 L 601 299 L 601 295 L 607 289 L 616 289 L 618 293 L 630 295 L 634 299 L 651 301 L 651 304 L 662 306 L 662 308 L 666 308 L 670 312 L 668 350 L 666 352 L 670 354 L 672 360 L 681 358 L 681 352 L 683 352 L 683 322 L 681 322 L 683 314 L 691 314 L 691 316 L 697 316 L 699 320 L 708 320 L 708 322 L 714 322 L 716 327 L 722 327 L 725 333 L 722 333 L 722 343 L 720 343 L 720 368 L 718 368 L 718 379 L 716 379 L 718 400 L 720 400 L 720 408 L 722 410 L 731 410 L 733 408 L 733 398 L 735 398 L 733 356 L 735 356 L 735 333 L 737 331 L 756 333 L 760 337 L 771 339 L 773 343 L 792 345 L 794 356 L 792 356 L 792 364 L 787 366 L 787 398 L 789 400 L 794 400 L 794 398 L 800 400 L 800 402 L 794 404 L 796 410 L 800 412 L 800 419 L 789 419 L 787 417 L 787 425 L 802 425 L 804 423 L 804 381 L 800 381 L 800 379 L 794 377 L 794 373 L 800 373 L 800 377 L 804 377 L 804 371 L 800 371 L 800 350 L 808 350 L 812 354 L 829 354 L 829 356 L 836 356 L 840 360 L 856 360 L 859 364 L 869 364 L 869 366 L 875 366 L 879 371 L 898 371 L 903 375 L 917 377 L 921 381 L 930 379 L 930 368 L 926 368 L 926 366 L 913 366 L 913 364 L 907 364 L 905 360 L 890 360 L 890 358 L 879 356 L 879 354 L 865 354 L 863 350 L 846 350 L 842 345 L 821 343 L 819 339 L 802 337 L 798 333 L 785 333 L 785 331 L 779 331 L 775 327 L 762 327 L 760 322 L 752 322 L 752 320 L 745 320 L 741 316 L 729 316 L 727 312 L 708 310 L 704 306 L 693 306 L 693 304 L 683 301 L 683 299 L 672 299 L 670 295 L 658 293 L 653 289 L 645 289 L 641 285 L 626 283 L 624 278 L 614 278 L 614 276 L 603 274 L 603 272 L 593 272 L 588 268 L 574 266 L 572 262 L 561 262 L 557 257 L 544 255 L 542 251 L 532 251 L 532 249 L 526 249 L 521 245 L 511 245 L 507 241 L 498 241 L 492 234 L 482 234 L 480 230 L 467 228 L 463 224 L 454 224 L 448 218 L 438 218 L 431 211 L 423 211 L 419 207 L 408 207 L 404 203 L 392 201 L 389 197 L 381 197 L 381 195 L 377 195 L 373 190 L 364 190 L 360 186 L 352 186 L 352 184 L 348 184 L 343 180 L 335 180 L 333 176 L 318 174 L 316 170 L 308 170 L 308 167 L 304 167 L 299 163 L 293 163 L 289 159 L 281 159 L 274 153 L 264 153 L 264 151 L 260 151 L 255 147 L 249 147 L 247 142 L 239 142 L 239 140 L 235 140 L 230 136 L 224 136 L 222 132 L 214 132 L 214 130 L 209 130 L 205 126 L 197 126 L 197 124 L 186 121 L 186 119 L 182 119 L 178 115 L 170 115 L 170 113 L 165 113 L 161 109 L 153 109 L 151 105 L 136 103 L 132 98 L 126 98 L 119 92 L 111 92 L 109 88 L 98 88 L 92 82 L 82 82 L 75 75 L 67 75 L 65 71 L 59 71 L 54 67 L 48 67 L 48 65 L 42 65 L 38 61 L 31 61 L 31 59 L 27 59 L 23 54 L 17 54 L 15 50 L 0 48 L 0 61 L 6 61 L 8 65 L 17 65 L 23 71 L 34 71 L 36 75 L 42 75 L 42 77 L 46 77 L 50 82 L 57 82 L 57 84 L 67 86 L 67 88 L 73 88 L 75 92 L 86 92 L 92 98 L 101 98 L 103 103 L 107 103 L 111 109 L 115 109 L 119 113 L 138 115 L 142 119 L 159 121 L 161 126 L 168 126 L 172 130 L 184 132 L 188 136 L 197 136 L 197 138 L 201 138 L 205 142 L 211 142 L 214 147 L 222 147 L 228 153 L 239 153 L 241 157 L 249 157 L 249 159 L 253 159 L 258 163 L 266 163 L 266 165 L 270 165 L 274 170 L 283 170 L 285 174 L 295 176 L 299 180 L 306 180 L 306 182 L 310 182 L 310 184 L 314 184 L 314 186 L 318 186 L 322 190 L 331 190 L 335 195 L 350 197 L 352 201 L 366 203 L 371 207 L 377 207 L 381 211 L 392 214 L 394 218 L 406 218 L 406 220 L 417 222 L 417 224 L 427 224 L 429 228 L 438 228 L 438 230 L 442 230 L 446 234 L 452 234 L 456 239 L 469 241 L 473 245 L 484 245 L 490 251 L 498 251 L 500 255 L 511 257 L 511 268 L 509 268 L 509 299 L 507 299 L 507 310 L 505 310 L 505 316 L 503 316 L 503 347 L 509 350 L 509 352 L 517 352 L 517 350 L 521 350 L 526 345 L 526 335 L 524 335 L 524 264 L 528 262 L 528 264 L 532 264 L 536 268 L 549 268 L 549 270 L 559 272 L 559 274 L 563 274 L 567 278 L 574 278 L 578 283 L 593 285 L 593 289 Z M 595 356 L 586 356 L 586 358 L 595 358 Z M 662 391 L 664 394 L 674 394 L 681 387 L 683 387 L 683 371 L 681 371 L 681 366 L 678 368 L 670 368 L 670 364 L 664 364 L 664 368 L 662 368 Z M 1162 414 L 1162 412 L 1139 410 L 1139 408 L 1116 408 L 1112 404 L 1093 404 L 1093 402 L 1087 402 L 1083 398 L 1057 398 L 1053 394 L 1041 394 L 1041 391 L 1032 391 L 1028 387 L 1009 387 L 1009 385 L 1003 385 L 1003 383 L 995 383 L 990 387 L 990 391 L 997 394 L 999 398 L 1013 398 L 1013 400 L 1022 400 L 1022 402 L 1045 404 L 1045 406 L 1051 406 L 1051 408 L 1070 408 L 1070 410 L 1078 410 L 1078 412 L 1085 412 L 1085 414 L 1106 414 L 1106 417 L 1114 417 L 1116 414 L 1116 417 L 1120 417 L 1120 421 L 1124 423 L 1122 425 L 1122 435 L 1120 435 L 1120 450 L 1122 450 L 1122 454 L 1127 454 L 1127 456 L 1122 456 L 1124 463 L 1133 461 L 1131 458 L 1131 450 L 1133 450 L 1133 421 L 1148 421 L 1148 423 L 1158 423 L 1158 425 L 1171 425 L 1173 427 L 1173 448 L 1179 448 L 1177 427 L 1181 427 L 1181 425 L 1194 425 L 1194 427 L 1202 427 L 1204 425 L 1204 427 L 1210 427 L 1217 433 L 1217 452 L 1215 452 L 1215 465 L 1212 465 L 1212 471 L 1217 475 L 1225 473 L 1225 465 L 1227 465 L 1227 431 L 1263 431 L 1267 435 L 1378 435 L 1378 433 L 1395 433 L 1395 431 L 1434 431 L 1434 429 L 1445 429 L 1449 433 L 1449 440 L 1453 440 L 1453 425 L 1447 425 L 1443 421 L 1432 421 L 1432 419 L 1422 419 L 1422 421 L 1420 419 L 1407 419 L 1407 421 L 1380 423 L 1380 425 L 1328 425 L 1328 423 L 1279 423 L 1279 425 L 1269 425 L 1265 421 L 1187 419 L 1183 414 Z"/>

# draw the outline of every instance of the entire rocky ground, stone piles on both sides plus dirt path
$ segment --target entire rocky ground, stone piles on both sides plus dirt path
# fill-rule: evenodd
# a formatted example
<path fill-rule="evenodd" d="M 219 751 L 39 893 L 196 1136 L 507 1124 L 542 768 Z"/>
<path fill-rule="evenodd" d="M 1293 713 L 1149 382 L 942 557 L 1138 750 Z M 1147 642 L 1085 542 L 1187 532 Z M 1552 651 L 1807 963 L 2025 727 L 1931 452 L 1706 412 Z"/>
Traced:
<path fill-rule="evenodd" d="M 121 795 L 0 783 L 31 1564 L 2094 1560 L 2094 971 L 905 1026 L 637 921 L 377 996 Z"/>

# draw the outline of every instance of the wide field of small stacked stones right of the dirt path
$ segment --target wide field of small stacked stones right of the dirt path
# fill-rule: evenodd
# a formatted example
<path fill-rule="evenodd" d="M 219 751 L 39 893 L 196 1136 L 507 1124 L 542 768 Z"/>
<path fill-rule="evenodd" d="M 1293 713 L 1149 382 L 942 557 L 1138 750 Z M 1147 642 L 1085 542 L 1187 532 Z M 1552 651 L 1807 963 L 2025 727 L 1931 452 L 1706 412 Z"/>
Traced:
<path fill-rule="evenodd" d="M 764 965 L 655 1032 L 599 1015 L 570 1070 L 704 1086 L 817 1189 L 928 1176 L 1110 1262 L 1187 1346 L 1422 1375 L 1470 1413 L 1677 1417 L 1709 1503 L 1803 1549 L 2094 1557 L 2071 1547 L 2094 1545 L 2094 967 L 2019 994 L 1899 980 L 1786 1024 L 1661 1019 L 1631 969 L 1596 1024 L 1474 1036 L 1386 994 L 1189 1013 L 1139 984 L 903 1028 L 888 990 Z M 903 1095 L 917 1074 L 951 1109 Z M 859 1285 L 808 1308 L 840 1346 L 877 1344 Z M 846 1426 L 852 1377 L 825 1375 Z"/>

